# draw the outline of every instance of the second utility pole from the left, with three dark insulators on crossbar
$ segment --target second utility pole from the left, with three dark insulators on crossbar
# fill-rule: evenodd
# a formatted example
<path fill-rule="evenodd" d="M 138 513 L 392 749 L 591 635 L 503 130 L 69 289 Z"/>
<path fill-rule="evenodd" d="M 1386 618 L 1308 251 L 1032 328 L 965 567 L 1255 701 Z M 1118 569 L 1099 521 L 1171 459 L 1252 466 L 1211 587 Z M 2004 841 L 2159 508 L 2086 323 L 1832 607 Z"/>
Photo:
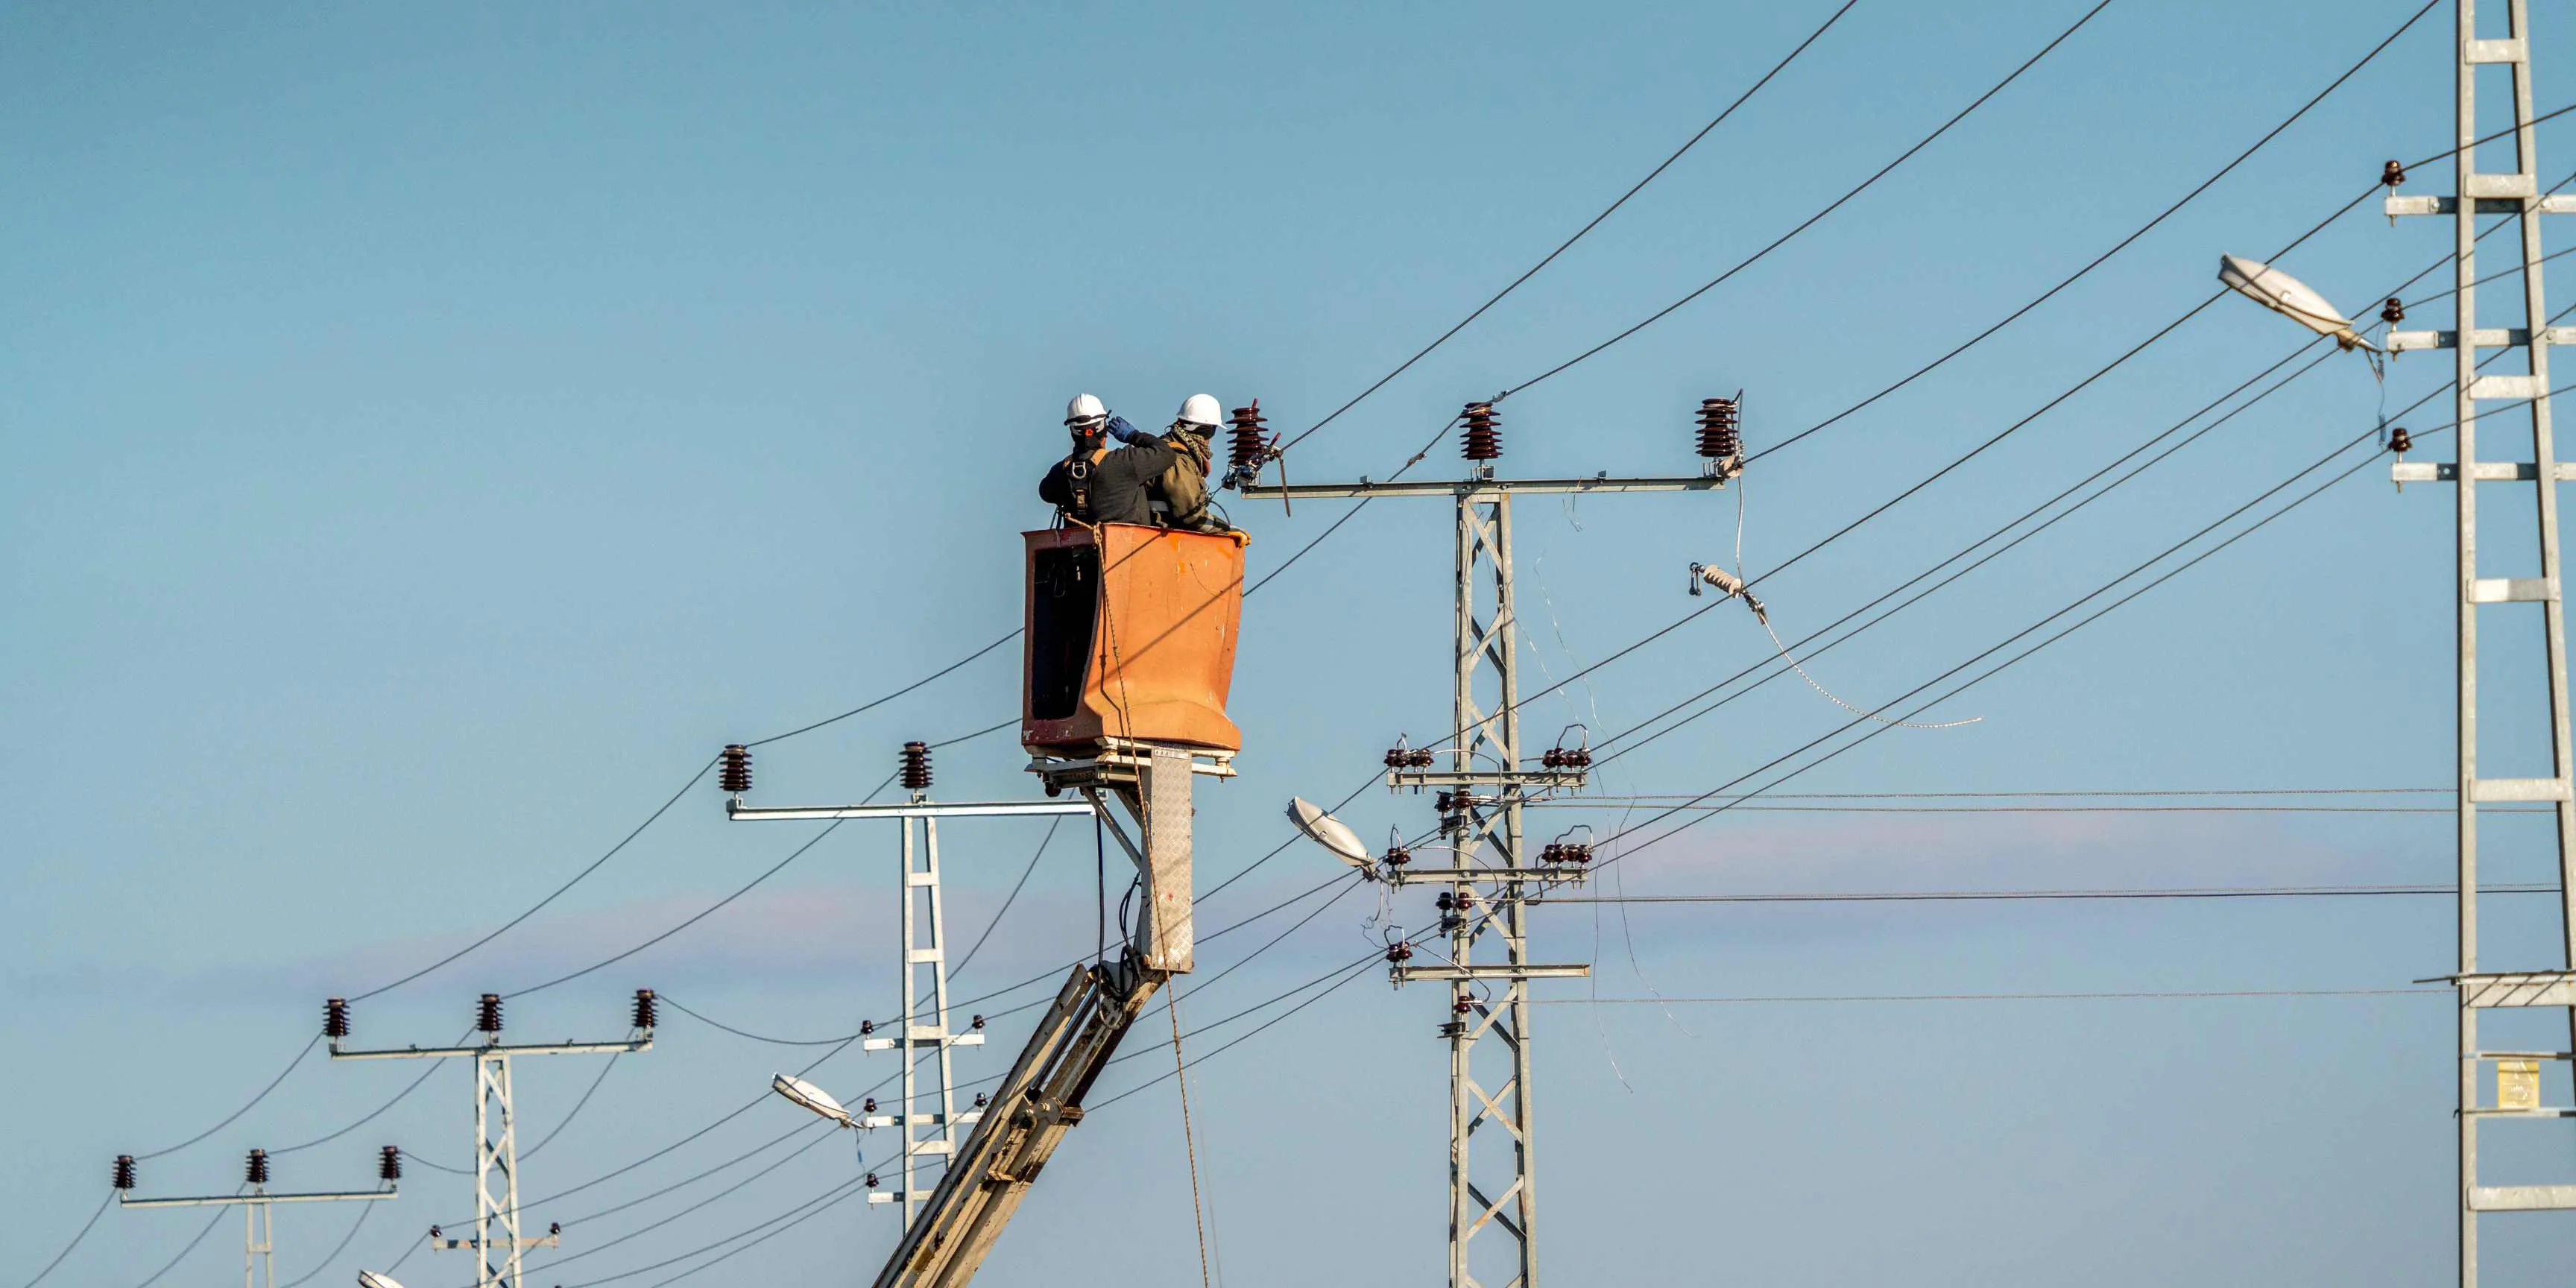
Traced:
<path fill-rule="evenodd" d="M 474 1046 L 404 1046 L 384 1051 L 343 1051 L 348 1038 L 348 1002 L 332 997 L 322 1007 L 322 1033 L 330 1038 L 330 1059 L 471 1059 L 474 1061 L 474 1236 L 446 1239 L 430 1229 L 430 1247 L 440 1252 L 474 1249 L 479 1270 L 474 1288 L 520 1288 L 518 1260 L 531 1247 L 562 1247 L 562 1226 L 549 1226 L 544 1236 L 528 1239 L 518 1231 L 518 1108 L 510 1097 L 510 1061 L 515 1056 L 623 1056 L 652 1051 L 654 994 L 636 989 L 634 1036 L 613 1043 L 502 1043 L 500 994 L 482 994 L 474 1007 Z"/>

